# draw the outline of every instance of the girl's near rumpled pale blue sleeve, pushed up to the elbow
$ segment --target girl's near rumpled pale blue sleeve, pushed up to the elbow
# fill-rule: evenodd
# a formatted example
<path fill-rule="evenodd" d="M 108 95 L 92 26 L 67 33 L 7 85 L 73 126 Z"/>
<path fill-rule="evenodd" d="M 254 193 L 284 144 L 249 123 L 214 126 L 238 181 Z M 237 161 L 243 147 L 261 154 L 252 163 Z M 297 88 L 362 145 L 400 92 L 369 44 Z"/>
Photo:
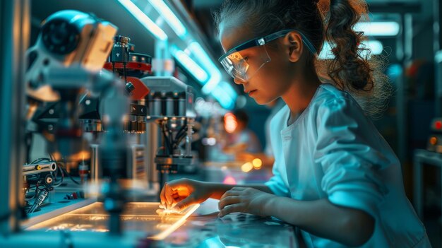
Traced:
<path fill-rule="evenodd" d="M 323 168 L 321 187 L 328 200 L 376 216 L 387 193 L 378 171 L 389 163 L 372 146 L 381 135 L 351 98 L 328 100 L 318 108 L 316 121 L 313 158 Z"/>

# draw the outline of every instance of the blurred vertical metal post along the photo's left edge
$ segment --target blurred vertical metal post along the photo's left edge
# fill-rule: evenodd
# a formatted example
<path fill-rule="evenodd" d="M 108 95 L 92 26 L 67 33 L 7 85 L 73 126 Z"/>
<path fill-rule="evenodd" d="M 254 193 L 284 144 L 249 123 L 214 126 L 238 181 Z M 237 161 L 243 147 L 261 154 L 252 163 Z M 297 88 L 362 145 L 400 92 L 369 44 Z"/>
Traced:
<path fill-rule="evenodd" d="M 25 162 L 25 52 L 30 40 L 30 1 L 0 2 L 0 232 L 20 229 L 21 166 Z"/>

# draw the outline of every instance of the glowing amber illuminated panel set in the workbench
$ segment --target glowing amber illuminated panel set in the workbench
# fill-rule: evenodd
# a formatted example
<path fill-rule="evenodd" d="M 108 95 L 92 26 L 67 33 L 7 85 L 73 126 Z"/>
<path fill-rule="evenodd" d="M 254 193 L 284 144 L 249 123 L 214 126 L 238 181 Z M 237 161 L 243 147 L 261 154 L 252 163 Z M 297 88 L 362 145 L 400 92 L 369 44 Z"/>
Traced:
<path fill-rule="evenodd" d="M 108 232 L 107 224 L 109 215 L 104 211 L 102 203 L 92 203 L 75 211 L 59 215 L 37 225 L 32 225 L 28 230 L 68 230 L 72 232 Z M 153 234 L 148 237 L 153 240 L 162 240 L 170 233 L 177 230 L 186 222 L 186 219 L 196 211 L 199 204 L 186 208 L 182 213 L 162 214 L 157 213 L 160 203 L 132 202 L 126 203 L 126 209 L 121 215 L 123 230 L 125 232 L 143 231 Z"/>

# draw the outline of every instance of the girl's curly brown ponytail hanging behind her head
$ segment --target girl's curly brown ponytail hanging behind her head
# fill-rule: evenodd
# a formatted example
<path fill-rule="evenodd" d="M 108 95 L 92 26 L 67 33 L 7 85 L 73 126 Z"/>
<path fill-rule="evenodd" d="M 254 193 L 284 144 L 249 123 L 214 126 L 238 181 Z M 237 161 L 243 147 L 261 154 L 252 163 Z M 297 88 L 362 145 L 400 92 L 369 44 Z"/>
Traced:
<path fill-rule="evenodd" d="M 361 46 L 364 33 L 353 30 L 359 20 L 368 19 L 365 1 L 320 0 L 318 8 L 325 23 L 325 41 L 334 55 L 333 60 L 318 65 L 325 67 L 332 83 L 349 92 L 366 114 L 378 119 L 388 107 L 392 86 L 382 72 L 384 57 L 370 57 L 370 49 Z"/>

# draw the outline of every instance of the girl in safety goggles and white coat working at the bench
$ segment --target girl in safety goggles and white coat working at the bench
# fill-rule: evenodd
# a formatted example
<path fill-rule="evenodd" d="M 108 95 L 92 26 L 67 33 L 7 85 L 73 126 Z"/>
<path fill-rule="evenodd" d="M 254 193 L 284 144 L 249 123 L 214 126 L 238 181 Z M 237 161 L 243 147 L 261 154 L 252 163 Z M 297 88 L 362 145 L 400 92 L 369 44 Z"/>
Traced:
<path fill-rule="evenodd" d="M 352 30 L 364 13 L 363 0 L 225 1 L 221 64 L 258 104 L 286 103 L 271 122 L 273 177 L 235 187 L 179 179 L 163 187 L 162 205 L 220 199 L 220 217 L 275 216 L 301 228 L 308 247 L 430 247 L 398 158 L 366 117 L 386 88 Z M 334 59 L 324 67 L 325 41 Z"/>

